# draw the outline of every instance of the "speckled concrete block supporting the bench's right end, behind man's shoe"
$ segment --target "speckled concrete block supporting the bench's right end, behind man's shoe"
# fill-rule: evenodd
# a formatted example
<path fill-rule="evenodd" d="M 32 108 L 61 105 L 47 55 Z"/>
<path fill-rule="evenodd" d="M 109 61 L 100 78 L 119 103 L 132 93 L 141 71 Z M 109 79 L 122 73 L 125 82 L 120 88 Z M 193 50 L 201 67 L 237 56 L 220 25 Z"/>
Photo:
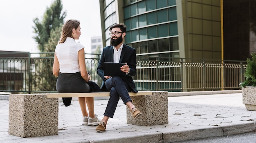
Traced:
<path fill-rule="evenodd" d="M 153 126 L 168 124 L 168 92 L 152 91 L 152 95 L 131 96 L 132 103 L 142 113 L 133 118 L 126 107 L 127 124 L 140 126 Z"/>

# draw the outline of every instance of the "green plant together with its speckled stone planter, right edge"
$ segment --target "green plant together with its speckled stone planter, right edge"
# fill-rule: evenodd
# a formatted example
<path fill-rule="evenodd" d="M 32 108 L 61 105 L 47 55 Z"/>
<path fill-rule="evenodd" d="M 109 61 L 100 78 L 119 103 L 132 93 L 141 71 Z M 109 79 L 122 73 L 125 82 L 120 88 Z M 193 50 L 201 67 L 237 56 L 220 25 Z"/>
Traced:
<path fill-rule="evenodd" d="M 256 111 L 256 53 L 252 53 L 251 56 L 252 60 L 246 60 L 245 81 L 241 83 L 241 87 L 246 109 Z"/>

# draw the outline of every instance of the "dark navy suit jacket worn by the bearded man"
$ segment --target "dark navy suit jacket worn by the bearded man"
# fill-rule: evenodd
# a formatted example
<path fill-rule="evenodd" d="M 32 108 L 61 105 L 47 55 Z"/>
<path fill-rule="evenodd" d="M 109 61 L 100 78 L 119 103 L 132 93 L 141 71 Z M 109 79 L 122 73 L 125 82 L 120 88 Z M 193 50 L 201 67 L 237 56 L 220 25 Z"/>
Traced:
<path fill-rule="evenodd" d="M 98 75 L 103 79 L 101 91 L 107 91 L 105 86 L 104 80 L 104 71 L 103 71 L 103 63 L 104 62 L 113 62 L 113 53 L 114 49 L 113 46 L 107 46 L 103 48 L 101 59 L 99 61 L 99 65 L 97 68 Z M 130 86 L 132 92 L 137 93 L 137 89 L 135 88 L 135 82 L 132 80 L 131 76 L 135 76 L 136 73 L 136 50 L 135 48 L 130 47 L 129 45 L 123 46 L 121 56 L 120 56 L 120 63 L 127 63 L 130 67 L 130 73 L 126 75 L 126 77 L 123 77 L 123 80 Z M 130 91 L 129 91 L 130 92 Z"/>

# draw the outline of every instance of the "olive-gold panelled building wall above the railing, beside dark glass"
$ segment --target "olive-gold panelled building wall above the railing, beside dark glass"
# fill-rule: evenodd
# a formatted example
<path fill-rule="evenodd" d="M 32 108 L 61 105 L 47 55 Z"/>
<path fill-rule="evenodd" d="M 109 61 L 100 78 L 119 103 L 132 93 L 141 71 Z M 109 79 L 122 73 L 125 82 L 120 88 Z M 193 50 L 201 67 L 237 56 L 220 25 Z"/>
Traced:
<path fill-rule="evenodd" d="M 180 57 L 221 59 L 220 0 L 176 0 Z"/>

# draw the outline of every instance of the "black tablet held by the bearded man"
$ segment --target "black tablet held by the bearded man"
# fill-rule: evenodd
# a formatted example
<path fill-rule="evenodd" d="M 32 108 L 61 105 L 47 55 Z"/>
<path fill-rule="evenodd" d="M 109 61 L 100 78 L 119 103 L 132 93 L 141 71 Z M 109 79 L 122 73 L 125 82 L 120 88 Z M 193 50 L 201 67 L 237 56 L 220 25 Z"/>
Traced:
<path fill-rule="evenodd" d="M 126 65 L 125 63 L 113 63 L 113 62 L 104 62 L 103 70 L 104 76 L 120 76 L 125 77 L 126 73 L 122 72 L 120 67 Z"/>

